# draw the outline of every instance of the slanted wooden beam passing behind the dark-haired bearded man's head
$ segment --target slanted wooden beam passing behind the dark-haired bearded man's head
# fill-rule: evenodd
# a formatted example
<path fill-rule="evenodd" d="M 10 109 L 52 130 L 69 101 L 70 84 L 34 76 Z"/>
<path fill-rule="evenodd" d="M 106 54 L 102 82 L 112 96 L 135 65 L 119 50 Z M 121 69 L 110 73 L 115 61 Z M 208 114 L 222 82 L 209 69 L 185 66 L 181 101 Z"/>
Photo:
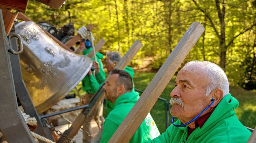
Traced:
<path fill-rule="evenodd" d="M 140 50 L 141 47 L 142 47 L 141 41 L 138 41 L 138 40 L 135 41 L 134 44 L 132 45 L 132 47 L 129 49 L 129 51 L 127 51 L 127 53 L 123 56 L 121 61 L 119 61 L 118 64 L 115 66 L 115 68 L 123 70 L 128 65 L 128 63 L 131 61 L 131 59 L 136 55 L 136 53 Z M 106 83 L 108 78 L 109 78 L 109 76 L 106 78 L 104 83 Z M 99 90 L 102 90 L 102 89 L 99 89 Z M 82 111 L 78 115 L 78 117 L 74 120 L 71 127 L 68 130 L 66 130 L 63 134 L 67 135 L 69 138 L 73 138 L 76 135 L 76 133 L 78 132 L 78 130 L 80 129 L 80 127 L 82 126 L 86 117 L 87 116 L 84 114 L 84 111 Z M 64 137 L 61 136 L 60 139 L 57 141 L 57 143 L 64 143 L 65 141 L 67 141 L 67 140 L 65 140 Z"/>

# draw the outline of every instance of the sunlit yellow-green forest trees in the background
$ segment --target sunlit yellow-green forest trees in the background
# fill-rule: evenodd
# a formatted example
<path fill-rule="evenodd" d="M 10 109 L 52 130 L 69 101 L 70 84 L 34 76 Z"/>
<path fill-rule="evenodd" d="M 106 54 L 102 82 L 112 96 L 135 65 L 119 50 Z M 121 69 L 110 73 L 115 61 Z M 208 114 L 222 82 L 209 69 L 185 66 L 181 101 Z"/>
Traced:
<path fill-rule="evenodd" d="M 190 24 L 199 21 L 205 32 L 183 64 L 214 62 L 231 88 L 256 89 L 256 0 L 66 0 L 58 10 L 30 0 L 26 15 L 57 28 L 72 22 L 75 31 L 92 24 L 95 44 L 106 40 L 101 53 L 124 55 L 140 40 L 143 47 L 130 66 L 146 72 L 157 71 Z M 251 93 L 256 111 L 255 90 Z"/>

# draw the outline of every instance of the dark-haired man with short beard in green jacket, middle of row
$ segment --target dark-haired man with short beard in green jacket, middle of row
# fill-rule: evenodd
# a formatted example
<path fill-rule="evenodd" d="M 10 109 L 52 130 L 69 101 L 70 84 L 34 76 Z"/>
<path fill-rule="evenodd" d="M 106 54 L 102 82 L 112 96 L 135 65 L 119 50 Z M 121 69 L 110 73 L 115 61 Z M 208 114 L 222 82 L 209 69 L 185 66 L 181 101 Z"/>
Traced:
<path fill-rule="evenodd" d="M 105 143 L 109 141 L 140 98 L 139 93 L 132 91 L 132 89 L 132 77 L 128 72 L 117 69 L 112 70 L 108 81 L 103 86 L 103 90 L 105 92 L 105 98 L 113 103 L 114 108 L 105 119 L 100 142 Z M 158 128 L 150 113 L 148 113 L 130 142 L 145 142 L 158 135 L 160 135 Z"/>

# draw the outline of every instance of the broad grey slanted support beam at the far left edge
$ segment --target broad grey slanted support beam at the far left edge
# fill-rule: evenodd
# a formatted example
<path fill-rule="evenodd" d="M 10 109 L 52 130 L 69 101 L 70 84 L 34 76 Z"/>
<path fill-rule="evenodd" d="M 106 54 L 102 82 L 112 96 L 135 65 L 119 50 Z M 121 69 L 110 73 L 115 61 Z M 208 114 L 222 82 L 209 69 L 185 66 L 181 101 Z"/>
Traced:
<path fill-rule="evenodd" d="M 35 139 L 18 109 L 8 51 L 9 38 L 6 39 L 3 21 L 2 10 L 0 9 L 0 130 L 10 143 L 35 143 Z M 18 141 L 16 136 L 20 137 Z"/>

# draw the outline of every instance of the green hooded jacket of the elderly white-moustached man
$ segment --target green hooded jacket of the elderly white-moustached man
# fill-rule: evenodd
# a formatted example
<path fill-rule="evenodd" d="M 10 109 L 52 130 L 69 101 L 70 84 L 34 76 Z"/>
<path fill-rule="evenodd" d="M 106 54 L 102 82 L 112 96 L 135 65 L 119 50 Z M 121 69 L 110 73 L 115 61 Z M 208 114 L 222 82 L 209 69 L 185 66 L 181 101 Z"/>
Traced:
<path fill-rule="evenodd" d="M 215 108 L 202 128 L 197 127 L 188 137 L 188 128 L 170 125 L 166 132 L 148 142 L 163 143 L 246 143 L 251 132 L 238 120 L 234 109 L 238 101 L 227 94 Z M 175 124 L 181 125 L 177 120 Z"/>

